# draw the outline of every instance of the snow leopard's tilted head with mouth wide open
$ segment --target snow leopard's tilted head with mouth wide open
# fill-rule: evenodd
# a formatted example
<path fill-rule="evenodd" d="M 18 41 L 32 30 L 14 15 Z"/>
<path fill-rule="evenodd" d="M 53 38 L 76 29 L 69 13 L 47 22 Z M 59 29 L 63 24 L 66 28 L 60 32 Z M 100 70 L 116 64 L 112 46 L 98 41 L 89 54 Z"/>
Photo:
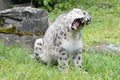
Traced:
<path fill-rule="evenodd" d="M 73 9 L 68 16 L 70 22 L 69 28 L 71 30 L 82 29 L 91 22 L 91 16 L 89 13 L 81 9 Z"/>

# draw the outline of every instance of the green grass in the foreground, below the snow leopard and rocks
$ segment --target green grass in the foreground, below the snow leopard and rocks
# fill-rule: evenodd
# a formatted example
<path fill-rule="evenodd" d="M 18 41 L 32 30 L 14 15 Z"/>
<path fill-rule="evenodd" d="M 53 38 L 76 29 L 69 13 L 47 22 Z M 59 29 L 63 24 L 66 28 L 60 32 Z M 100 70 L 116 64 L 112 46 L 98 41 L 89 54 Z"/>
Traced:
<path fill-rule="evenodd" d="M 119 80 L 120 55 L 83 52 L 83 67 L 62 72 L 58 66 L 36 63 L 30 52 L 0 43 L 0 80 Z"/>

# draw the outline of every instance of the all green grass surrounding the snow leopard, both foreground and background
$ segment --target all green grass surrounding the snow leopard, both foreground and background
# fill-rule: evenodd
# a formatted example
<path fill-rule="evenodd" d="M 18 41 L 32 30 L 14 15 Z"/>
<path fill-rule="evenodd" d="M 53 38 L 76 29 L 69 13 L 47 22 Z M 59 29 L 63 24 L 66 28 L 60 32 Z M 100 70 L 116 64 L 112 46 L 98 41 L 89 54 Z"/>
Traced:
<path fill-rule="evenodd" d="M 87 10 L 92 16 L 92 23 L 83 29 L 84 46 L 100 42 L 120 44 L 119 0 L 76 2 L 73 7 Z M 100 6 L 103 3 L 112 7 Z M 64 12 L 53 11 L 49 17 L 55 19 Z M 19 46 L 6 47 L 1 42 L 0 80 L 120 80 L 119 54 L 83 52 L 82 69 L 71 66 L 70 70 L 61 72 L 58 66 L 35 63 L 30 57 L 31 53 Z"/>

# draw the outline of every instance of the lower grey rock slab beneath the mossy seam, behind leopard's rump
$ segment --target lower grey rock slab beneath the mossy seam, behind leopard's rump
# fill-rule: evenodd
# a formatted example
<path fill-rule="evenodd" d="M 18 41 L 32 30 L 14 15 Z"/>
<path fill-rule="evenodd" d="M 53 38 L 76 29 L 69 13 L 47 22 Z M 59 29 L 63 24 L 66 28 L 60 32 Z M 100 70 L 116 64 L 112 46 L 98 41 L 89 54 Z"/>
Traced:
<path fill-rule="evenodd" d="M 14 34 L 0 34 L 0 40 L 4 41 L 6 46 L 19 45 L 27 50 L 33 50 L 34 41 L 39 38 L 38 36 L 19 36 Z"/>

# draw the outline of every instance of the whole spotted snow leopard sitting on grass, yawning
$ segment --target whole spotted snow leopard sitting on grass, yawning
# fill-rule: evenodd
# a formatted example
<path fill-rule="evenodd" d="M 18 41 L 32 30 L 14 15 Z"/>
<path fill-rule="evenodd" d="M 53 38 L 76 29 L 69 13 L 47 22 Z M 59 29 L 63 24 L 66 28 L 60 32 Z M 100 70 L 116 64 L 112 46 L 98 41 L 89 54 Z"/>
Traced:
<path fill-rule="evenodd" d="M 60 15 L 47 29 L 43 38 L 34 44 L 36 61 L 47 64 L 58 63 L 61 68 L 68 68 L 68 62 L 73 59 L 76 67 L 82 66 L 82 38 L 81 31 L 88 25 L 91 17 L 88 12 L 73 9 L 69 13 Z M 76 27 L 78 25 L 80 27 Z"/>

